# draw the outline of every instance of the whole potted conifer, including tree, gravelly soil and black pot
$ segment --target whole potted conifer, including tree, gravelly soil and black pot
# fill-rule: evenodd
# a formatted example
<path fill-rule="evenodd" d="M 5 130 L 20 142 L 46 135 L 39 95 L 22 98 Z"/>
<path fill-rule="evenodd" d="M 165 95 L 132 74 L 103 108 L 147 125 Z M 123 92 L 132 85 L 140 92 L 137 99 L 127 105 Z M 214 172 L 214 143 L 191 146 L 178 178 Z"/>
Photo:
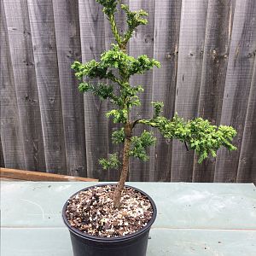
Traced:
<path fill-rule="evenodd" d="M 141 256 L 146 255 L 148 232 L 156 217 L 156 207 L 147 194 L 125 185 L 125 180 L 130 157 L 148 160 L 147 148 L 154 145 L 155 137 L 149 131 L 143 131 L 140 137 L 134 136 L 132 131 L 136 125 L 150 125 L 167 139 L 186 143 L 195 149 L 200 163 L 209 154 L 215 157 L 221 146 L 236 149 L 231 144 L 236 131 L 230 126 L 211 125 L 201 118 L 185 121 L 177 113 L 172 119 L 166 119 L 161 115 L 162 102 L 152 102 L 154 116 L 151 119 L 131 119 L 131 108 L 140 105 L 138 94 L 143 92 L 143 86 L 129 83 L 131 76 L 160 67 L 159 61 L 147 55 L 134 57 L 126 51 L 137 26 L 147 24 L 148 13 L 131 11 L 119 0 L 96 2 L 102 4 L 116 42 L 102 53 L 100 61 L 91 60 L 84 64 L 74 61 L 72 68 L 81 80 L 81 92 L 90 92 L 113 103 L 113 109 L 106 115 L 122 126 L 112 134 L 113 143 L 124 144 L 122 161 L 118 154 L 110 154 L 99 162 L 103 169 L 122 166 L 122 172 L 117 184 L 93 186 L 71 196 L 63 207 L 62 218 L 70 231 L 75 256 Z M 127 30 L 124 34 L 119 33 L 115 22 L 118 4 L 126 14 Z M 90 79 L 108 79 L 111 83 L 95 84 Z"/>

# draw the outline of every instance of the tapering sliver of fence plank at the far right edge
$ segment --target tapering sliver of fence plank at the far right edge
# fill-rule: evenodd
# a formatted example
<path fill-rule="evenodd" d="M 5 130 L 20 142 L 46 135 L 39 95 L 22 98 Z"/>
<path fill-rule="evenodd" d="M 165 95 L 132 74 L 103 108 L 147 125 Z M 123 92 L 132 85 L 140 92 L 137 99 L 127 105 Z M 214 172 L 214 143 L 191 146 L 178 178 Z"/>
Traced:
<path fill-rule="evenodd" d="M 256 58 L 239 156 L 237 183 L 256 183 Z"/>

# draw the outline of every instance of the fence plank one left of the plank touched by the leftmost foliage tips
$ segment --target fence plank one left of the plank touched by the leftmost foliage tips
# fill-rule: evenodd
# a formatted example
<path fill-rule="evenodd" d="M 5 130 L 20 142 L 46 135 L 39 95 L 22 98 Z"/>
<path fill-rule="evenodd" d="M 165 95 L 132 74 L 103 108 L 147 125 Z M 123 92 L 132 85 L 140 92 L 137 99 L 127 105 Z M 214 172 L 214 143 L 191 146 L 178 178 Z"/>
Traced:
<path fill-rule="evenodd" d="M 61 93 L 51 0 L 28 0 L 46 171 L 66 174 Z"/>

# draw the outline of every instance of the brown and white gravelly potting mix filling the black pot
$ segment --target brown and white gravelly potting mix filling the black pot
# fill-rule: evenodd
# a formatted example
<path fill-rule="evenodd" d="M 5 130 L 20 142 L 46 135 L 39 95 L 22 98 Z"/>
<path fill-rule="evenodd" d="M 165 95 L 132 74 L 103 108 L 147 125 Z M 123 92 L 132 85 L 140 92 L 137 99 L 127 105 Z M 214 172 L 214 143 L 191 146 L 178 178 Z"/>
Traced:
<path fill-rule="evenodd" d="M 72 227 L 92 236 L 116 237 L 141 230 L 152 218 L 145 195 L 125 188 L 120 209 L 113 208 L 115 185 L 94 187 L 68 200 L 66 216 Z"/>

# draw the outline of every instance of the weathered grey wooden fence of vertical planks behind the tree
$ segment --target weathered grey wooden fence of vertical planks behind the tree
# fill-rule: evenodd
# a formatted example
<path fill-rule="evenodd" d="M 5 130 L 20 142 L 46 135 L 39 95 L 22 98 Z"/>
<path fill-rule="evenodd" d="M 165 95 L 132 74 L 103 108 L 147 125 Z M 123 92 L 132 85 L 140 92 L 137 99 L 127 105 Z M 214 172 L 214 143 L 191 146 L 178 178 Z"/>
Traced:
<path fill-rule="evenodd" d="M 126 0 L 146 9 L 148 26 L 129 44 L 131 55 L 162 63 L 132 79 L 143 84 L 137 113 L 150 102 L 164 114 L 202 116 L 238 131 L 236 152 L 196 163 L 183 143 L 159 134 L 146 163 L 131 161 L 131 181 L 256 181 L 256 1 Z M 124 30 L 124 14 L 118 16 Z M 99 58 L 113 42 L 95 0 L 1 0 L 1 166 L 116 180 L 98 158 L 117 148 L 108 102 L 77 90 L 73 60 Z M 137 132 L 141 131 L 139 128 Z"/>

